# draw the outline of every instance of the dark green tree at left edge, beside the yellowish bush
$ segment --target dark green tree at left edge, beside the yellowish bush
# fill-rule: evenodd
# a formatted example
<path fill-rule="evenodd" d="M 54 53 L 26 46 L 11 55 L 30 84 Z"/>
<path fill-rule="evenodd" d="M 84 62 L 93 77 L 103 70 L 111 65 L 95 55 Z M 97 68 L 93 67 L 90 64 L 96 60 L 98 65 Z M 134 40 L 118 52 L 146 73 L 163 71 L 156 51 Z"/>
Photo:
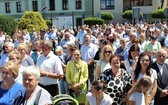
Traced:
<path fill-rule="evenodd" d="M 18 21 L 11 16 L 0 15 L 0 31 L 12 35 L 18 25 Z"/>

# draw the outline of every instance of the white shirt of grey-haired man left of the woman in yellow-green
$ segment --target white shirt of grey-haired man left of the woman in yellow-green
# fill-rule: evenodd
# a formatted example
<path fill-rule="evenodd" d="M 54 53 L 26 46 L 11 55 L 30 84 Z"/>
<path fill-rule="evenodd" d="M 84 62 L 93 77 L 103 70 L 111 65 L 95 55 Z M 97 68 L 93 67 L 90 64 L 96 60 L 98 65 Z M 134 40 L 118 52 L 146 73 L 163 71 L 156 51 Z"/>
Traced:
<path fill-rule="evenodd" d="M 47 71 L 49 73 L 56 73 L 63 75 L 63 70 L 61 66 L 61 60 L 58 56 L 54 55 L 52 51 L 45 57 L 44 54 L 41 54 L 37 58 L 37 67 L 40 70 Z M 57 84 L 58 80 L 50 77 L 40 77 L 40 84 L 42 85 L 51 85 Z"/>

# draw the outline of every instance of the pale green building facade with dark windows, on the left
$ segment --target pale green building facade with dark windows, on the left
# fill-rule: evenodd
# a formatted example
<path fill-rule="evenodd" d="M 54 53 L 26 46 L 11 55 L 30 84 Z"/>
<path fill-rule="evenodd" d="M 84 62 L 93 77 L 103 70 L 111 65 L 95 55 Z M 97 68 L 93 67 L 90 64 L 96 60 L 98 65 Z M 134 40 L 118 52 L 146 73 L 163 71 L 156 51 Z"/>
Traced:
<path fill-rule="evenodd" d="M 25 11 L 40 12 L 44 19 L 72 16 L 74 26 L 92 16 L 92 0 L 0 0 L 0 13 L 20 19 Z"/>

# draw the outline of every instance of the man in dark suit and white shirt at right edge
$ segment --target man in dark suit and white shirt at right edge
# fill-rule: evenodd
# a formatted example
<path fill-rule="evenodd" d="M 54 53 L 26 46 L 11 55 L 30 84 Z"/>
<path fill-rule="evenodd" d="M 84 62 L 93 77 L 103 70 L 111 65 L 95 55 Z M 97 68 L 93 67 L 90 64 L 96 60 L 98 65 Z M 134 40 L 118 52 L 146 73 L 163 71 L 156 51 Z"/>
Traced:
<path fill-rule="evenodd" d="M 157 92 L 155 94 L 154 105 L 168 105 L 168 64 L 165 63 L 167 52 L 160 49 L 156 53 L 156 61 L 152 68 L 157 72 Z"/>

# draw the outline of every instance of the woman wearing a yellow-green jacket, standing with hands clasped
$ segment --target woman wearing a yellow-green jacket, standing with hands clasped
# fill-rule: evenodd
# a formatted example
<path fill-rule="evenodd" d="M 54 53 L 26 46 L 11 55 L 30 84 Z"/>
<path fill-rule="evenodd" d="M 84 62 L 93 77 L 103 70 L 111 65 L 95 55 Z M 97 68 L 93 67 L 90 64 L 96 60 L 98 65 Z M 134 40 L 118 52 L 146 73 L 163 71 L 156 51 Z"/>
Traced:
<path fill-rule="evenodd" d="M 80 105 L 84 105 L 86 100 L 88 80 L 88 65 L 82 61 L 81 52 L 79 49 L 73 52 L 74 60 L 68 62 L 66 66 L 66 80 L 69 88 L 73 90 L 76 97 L 74 97 Z M 69 94 L 71 94 L 69 92 Z"/>

